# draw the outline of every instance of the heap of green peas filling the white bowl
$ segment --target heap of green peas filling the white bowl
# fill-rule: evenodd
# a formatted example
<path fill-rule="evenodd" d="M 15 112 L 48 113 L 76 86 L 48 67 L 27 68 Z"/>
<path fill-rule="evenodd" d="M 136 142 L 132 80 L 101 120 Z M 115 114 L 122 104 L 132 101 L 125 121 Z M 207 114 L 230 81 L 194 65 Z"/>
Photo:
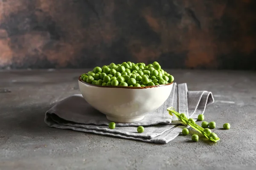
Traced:
<path fill-rule="evenodd" d="M 174 77 L 161 69 L 158 62 L 145 63 L 123 62 L 95 67 L 93 71 L 82 74 L 81 79 L 92 85 L 146 87 L 169 84 Z"/>

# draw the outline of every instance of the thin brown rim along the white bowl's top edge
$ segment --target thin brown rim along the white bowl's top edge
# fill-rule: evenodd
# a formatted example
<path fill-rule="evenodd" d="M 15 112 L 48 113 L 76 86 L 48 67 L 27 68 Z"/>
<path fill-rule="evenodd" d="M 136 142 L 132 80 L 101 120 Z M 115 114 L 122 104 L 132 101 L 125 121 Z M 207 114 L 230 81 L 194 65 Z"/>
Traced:
<path fill-rule="evenodd" d="M 130 87 L 130 86 L 110 86 L 110 85 L 92 85 L 90 83 L 87 83 L 87 82 L 84 82 L 82 79 L 81 79 L 81 75 L 79 76 L 78 78 L 79 82 L 85 84 L 85 85 L 89 85 L 89 86 L 94 86 L 94 87 L 98 87 L 98 88 L 127 88 L 127 89 L 146 89 L 146 88 L 159 88 L 159 87 L 163 87 L 163 86 L 167 86 L 167 85 L 172 85 L 173 84 L 173 81 L 168 83 L 168 84 L 165 84 L 165 85 L 152 85 L 152 86 L 145 86 L 145 87 Z"/>

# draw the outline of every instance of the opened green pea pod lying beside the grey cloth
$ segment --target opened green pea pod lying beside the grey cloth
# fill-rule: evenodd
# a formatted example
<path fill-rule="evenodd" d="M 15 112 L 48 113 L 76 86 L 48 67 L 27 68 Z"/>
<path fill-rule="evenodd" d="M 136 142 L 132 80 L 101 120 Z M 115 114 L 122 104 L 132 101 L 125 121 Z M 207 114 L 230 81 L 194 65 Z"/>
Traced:
<path fill-rule="evenodd" d="M 188 121 L 187 118 L 183 118 L 180 116 L 180 113 L 176 112 L 174 110 L 174 108 L 170 107 L 170 108 L 167 108 L 167 111 L 169 111 L 169 114 L 173 116 L 173 114 L 175 114 L 175 116 L 181 120 L 181 122 L 185 123 L 186 125 L 189 125 L 190 127 L 192 127 L 193 129 L 197 130 L 198 132 L 202 133 L 207 139 L 213 141 L 213 142 L 218 142 L 220 139 L 212 139 L 212 137 L 210 137 L 207 133 L 204 132 L 204 128 L 197 125 L 197 124 L 192 124 Z"/>

